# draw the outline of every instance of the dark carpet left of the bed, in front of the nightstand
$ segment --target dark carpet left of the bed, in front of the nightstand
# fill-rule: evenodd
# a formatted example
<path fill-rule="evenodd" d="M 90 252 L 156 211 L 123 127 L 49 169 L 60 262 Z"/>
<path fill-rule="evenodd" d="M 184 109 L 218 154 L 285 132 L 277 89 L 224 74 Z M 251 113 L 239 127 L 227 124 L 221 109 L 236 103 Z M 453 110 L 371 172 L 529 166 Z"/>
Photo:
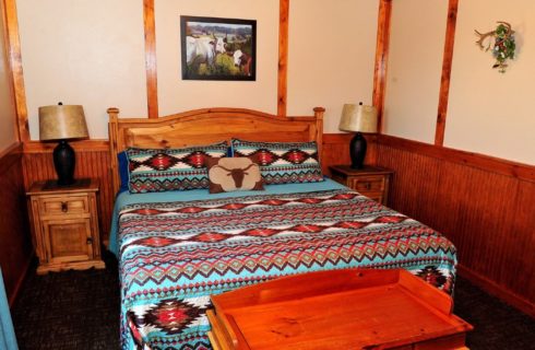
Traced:
<path fill-rule="evenodd" d="M 117 262 L 106 269 L 28 273 L 11 310 L 21 350 L 119 349 Z"/>

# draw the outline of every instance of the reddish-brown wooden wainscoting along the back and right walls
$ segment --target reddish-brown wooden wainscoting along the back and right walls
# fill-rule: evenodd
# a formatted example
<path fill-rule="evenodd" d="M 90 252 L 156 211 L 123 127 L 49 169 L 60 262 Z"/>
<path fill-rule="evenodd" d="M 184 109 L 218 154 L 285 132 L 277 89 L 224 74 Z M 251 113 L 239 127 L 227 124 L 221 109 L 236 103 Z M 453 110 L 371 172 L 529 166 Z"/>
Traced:
<path fill-rule="evenodd" d="M 350 138 L 350 133 L 324 135 L 325 174 L 329 165 L 349 163 Z M 100 179 L 100 230 L 107 241 L 115 197 L 107 142 L 88 141 L 74 148 L 76 176 Z M 368 138 L 366 163 L 395 171 L 390 207 L 453 241 L 461 275 L 535 314 L 534 167 L 389 136 Z M 50 148 L 25 147 L 23 164 L 26 188 L 56 176 Z M 21 182 L 21 176 L 13 175 L 11 180 Z M 2 200 L 12 202 L 5 196 Z"/>

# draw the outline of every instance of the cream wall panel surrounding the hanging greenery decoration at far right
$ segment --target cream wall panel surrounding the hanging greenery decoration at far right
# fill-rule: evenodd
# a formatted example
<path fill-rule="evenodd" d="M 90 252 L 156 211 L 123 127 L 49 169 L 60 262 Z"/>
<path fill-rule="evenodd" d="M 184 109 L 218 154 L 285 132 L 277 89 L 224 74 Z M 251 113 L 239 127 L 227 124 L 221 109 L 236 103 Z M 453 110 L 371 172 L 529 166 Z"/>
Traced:
<path fill-rule="evenodd" d="M 503 74 L 475 45 L 474 30 L 496 21 L 516 31 L 516 59 Z M 535 164 L 534 63 L 535 1 L 460 1 L 444 145 Z"/>

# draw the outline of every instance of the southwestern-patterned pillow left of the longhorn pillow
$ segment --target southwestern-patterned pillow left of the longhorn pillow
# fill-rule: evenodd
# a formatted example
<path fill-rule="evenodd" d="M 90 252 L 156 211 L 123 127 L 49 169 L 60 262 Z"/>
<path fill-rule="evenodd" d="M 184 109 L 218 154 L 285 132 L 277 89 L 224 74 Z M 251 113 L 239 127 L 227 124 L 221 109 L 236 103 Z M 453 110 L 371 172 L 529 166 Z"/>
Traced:
<path fill-rule="evenodd" d="M 226 142 L 183 149 L 127 150 L 131 194 L 209 188 L 206 156 L 223 158 Z"/>

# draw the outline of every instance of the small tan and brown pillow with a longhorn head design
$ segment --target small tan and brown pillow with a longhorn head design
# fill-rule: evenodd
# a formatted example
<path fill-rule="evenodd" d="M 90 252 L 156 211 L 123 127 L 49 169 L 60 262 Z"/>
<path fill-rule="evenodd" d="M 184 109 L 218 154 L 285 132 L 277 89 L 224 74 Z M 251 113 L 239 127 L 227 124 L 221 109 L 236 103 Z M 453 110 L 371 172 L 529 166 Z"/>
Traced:
<path fill-rule="evenodd" d="M 249 158 L 206 159 L 211 194 L 263 190 L 260 166 Z"/>

